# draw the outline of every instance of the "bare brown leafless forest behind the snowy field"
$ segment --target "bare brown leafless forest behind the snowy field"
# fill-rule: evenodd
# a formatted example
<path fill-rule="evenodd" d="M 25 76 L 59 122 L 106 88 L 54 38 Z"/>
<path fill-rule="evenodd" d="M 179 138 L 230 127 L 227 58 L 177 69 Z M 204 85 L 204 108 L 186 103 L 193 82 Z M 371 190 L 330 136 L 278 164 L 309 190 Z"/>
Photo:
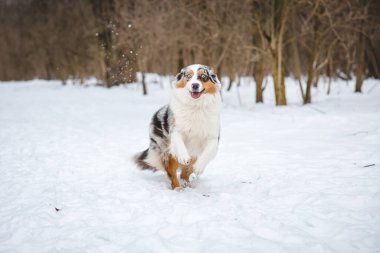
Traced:
<path fill-rule="evenodd" d="M 0 80 L 112 87 L 202 63 L 227 89 L 253 77 L 257 102 L 271 75 L 276 105 L 293 76 L 306 104 L 320 76 L 355 78 L 356 92 L 380 78 L 379 13 L 376 0 L 2 0 Z"/>

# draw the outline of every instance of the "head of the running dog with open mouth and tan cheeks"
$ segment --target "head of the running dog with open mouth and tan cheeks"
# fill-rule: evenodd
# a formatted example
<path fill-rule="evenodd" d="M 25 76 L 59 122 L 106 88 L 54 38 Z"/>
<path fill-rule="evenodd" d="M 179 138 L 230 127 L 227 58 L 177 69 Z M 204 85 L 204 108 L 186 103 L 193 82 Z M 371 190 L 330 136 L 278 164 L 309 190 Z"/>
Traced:
<path fill-rule="evenodd" d="M 188 90 L 189 96 L 193 99 L 215 95 L 221 87 L 220 81 L 213 70 L 200 64 L 183 68 L 177 74 L 176 79 L 176 88 Z"/>

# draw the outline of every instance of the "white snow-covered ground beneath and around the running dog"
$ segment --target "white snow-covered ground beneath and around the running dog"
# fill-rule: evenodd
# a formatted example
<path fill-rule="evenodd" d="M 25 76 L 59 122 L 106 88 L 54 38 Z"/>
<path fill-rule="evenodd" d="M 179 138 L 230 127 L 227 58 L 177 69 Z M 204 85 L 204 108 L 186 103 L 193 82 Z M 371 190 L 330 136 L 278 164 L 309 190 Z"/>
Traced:
<path fill-rule="evenodd" d="M 167 83 L 0 83 L 0 252 L 380 252 L 380 82 L 311 106 L 287 83 L 287 107 L 223 92 L 219 153 L 182 192 L 130 159 Z"/>

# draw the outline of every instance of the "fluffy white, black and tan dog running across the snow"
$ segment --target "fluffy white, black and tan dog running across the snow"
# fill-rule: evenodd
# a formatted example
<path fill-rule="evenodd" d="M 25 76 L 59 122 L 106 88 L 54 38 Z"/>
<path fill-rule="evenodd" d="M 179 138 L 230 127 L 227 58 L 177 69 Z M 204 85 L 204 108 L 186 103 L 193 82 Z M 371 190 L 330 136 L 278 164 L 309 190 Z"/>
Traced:
<path fill-rule="evenodd" d="M 187 185 L 216 156 L 221 83 L 211 68 L 194 64 L 176 75 L 173 86 L 169 104 L 152 117 L 149 148 L 134 160 L 141 169 L 166 171 L 172 189 L 181 189 L 177 169 Z"/>

